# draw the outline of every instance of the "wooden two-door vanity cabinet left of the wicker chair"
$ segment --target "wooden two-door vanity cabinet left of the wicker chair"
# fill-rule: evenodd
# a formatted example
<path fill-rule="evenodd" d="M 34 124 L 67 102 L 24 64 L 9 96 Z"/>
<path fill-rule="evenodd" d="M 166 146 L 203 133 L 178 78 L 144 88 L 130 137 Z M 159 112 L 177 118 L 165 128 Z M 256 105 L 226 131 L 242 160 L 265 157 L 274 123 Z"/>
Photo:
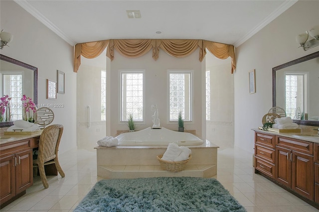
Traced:
<path fill-rule="evenodd" d="M 0 206 L 25 194 L 33 184 L 32 139 L 0 146 Z M 9 202 L 11 202 L 9 201 Z"/>

